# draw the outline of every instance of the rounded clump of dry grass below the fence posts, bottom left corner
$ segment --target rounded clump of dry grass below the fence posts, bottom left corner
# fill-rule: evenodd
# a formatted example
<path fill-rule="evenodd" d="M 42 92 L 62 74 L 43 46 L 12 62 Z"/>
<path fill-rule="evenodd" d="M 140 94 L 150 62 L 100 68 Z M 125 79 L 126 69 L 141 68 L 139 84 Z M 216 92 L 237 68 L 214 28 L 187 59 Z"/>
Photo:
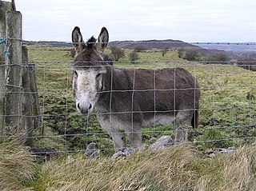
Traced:
<path fill-rule="evenodd" d="M 32 190 L 27 185 L 34 181 L 34 157 L 19 141 L 0 142 L 0 190 Z"/>

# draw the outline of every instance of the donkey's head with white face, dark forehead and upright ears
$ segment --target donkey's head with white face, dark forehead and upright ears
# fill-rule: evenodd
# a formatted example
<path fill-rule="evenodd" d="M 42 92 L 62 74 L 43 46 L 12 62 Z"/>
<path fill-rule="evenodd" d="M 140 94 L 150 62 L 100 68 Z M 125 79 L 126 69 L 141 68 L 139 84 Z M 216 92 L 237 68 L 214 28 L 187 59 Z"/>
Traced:
<path fill-rule="evenodd" d="M 90 113 L 98 101 L 98 92 L 102 90 L 102 76 L 106 73 L 107 63 L 103 61 L 103 50 L 109 41 L 109 34 L 102 28 L 98 39 L 91 37 L 88 42 L 82 40 L 78 26 L 72 32 L 72 42 L 76 58 L 71 69 L 73 73 L 73 90 L 79 113 Z"/>

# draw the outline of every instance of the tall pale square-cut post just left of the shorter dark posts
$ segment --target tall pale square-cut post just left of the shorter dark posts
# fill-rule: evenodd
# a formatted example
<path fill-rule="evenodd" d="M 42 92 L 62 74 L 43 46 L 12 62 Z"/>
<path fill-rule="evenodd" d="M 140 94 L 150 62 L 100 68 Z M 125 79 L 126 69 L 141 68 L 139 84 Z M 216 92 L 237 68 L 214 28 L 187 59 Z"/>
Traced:
<path fill-rule="evenodd" d="M 22 133 L 22 14 L 6 12 L 6 45 L 10 53 L 6 82 L 6 133 Z"/>

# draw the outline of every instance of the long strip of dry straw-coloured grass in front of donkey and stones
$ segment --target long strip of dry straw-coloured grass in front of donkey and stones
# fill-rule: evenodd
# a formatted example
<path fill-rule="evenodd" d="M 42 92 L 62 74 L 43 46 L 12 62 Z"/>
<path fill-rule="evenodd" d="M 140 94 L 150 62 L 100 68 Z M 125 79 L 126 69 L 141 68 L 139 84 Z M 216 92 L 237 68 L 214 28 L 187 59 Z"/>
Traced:
<path fill-rule="evenodd" d="M 118 161 L 82 154 L 46 162 L 35 190 L 256 190 L 256 147 L 203 157 L 191 146 L 144 151 Z"/>

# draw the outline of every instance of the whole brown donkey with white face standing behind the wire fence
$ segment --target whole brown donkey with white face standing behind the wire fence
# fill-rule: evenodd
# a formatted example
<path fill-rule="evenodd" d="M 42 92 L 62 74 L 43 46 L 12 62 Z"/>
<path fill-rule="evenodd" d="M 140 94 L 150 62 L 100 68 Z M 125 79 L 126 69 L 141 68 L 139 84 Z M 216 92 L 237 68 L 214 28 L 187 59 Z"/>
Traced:
<path fill-rule="evenodd" d="M 98 39 L 84 42 L 78 26 L 72 32 L 76 57 L 72 63 L 76 108 L 82 115 L 94 109 L 102 129 L 116 150 L 142 145 L 145 126 L 174 125 L 174 142 L 187 141 L 189 125 L 198 126 L 200 89 L 182 68 L 162 70 L 115 69 L 104 61 L 109 34 L 102 28 Z"/>

